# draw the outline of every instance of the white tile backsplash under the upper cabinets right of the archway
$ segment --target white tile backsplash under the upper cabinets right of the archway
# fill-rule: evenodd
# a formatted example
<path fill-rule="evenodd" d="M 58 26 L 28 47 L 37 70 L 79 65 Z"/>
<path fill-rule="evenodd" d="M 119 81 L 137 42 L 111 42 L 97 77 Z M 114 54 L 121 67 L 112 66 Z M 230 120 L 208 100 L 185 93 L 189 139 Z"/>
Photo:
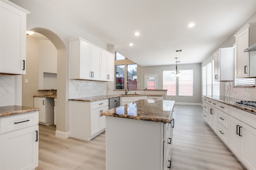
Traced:
<path fill-rule="evenodd" d="M 106 94 L 106 82 L 69 80 L 69 98 L 82 98 Z"/>

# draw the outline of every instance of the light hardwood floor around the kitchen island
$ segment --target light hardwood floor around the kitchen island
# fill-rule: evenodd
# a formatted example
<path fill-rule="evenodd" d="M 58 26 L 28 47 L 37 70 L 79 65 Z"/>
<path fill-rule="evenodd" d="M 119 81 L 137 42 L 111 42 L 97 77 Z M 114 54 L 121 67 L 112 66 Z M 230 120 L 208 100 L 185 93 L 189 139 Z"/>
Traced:
<path fill-rule="evenodd" d="M 172 170 L 243 170 L 202 117 L 201 106 L 175 105 Z M 56 127 L 39 125 L 36 170 L 105 170 L 105 133 L 91 141 L 55 137 Z"/>

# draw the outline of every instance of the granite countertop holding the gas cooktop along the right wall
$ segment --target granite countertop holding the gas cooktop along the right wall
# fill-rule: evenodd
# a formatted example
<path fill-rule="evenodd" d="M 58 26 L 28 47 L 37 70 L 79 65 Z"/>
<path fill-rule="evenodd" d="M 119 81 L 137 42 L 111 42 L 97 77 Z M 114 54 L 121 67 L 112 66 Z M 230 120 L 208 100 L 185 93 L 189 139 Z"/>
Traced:
<path fill-rule="evenodd" d="M 216 100 L 218 102 L 222 102 L 222 103 L 227 104 L 229 106 L 236 107 L 238 109 L 242 109 L 244 111 L 248 111 L 249 113 L 256 114 L 256 108 L 246 107 L 246 106 L 243 106 L 243 105 L 240 105 L 240 104 L 236 103 L 236 102 L 240 102 L 241 100 L 246 100 L 246 99 L 233 98 L 233 97 L 230 97 L 230 96 L 205 96 L 205 97 Z"/>

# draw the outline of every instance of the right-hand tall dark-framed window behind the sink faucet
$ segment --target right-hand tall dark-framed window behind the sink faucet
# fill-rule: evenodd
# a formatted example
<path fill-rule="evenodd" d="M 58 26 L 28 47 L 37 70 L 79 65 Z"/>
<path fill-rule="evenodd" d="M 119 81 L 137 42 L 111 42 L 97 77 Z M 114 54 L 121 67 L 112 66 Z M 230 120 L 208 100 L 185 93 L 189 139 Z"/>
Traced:
<path fill-rule="evenodd" d="M 127 64 L 127 81 L 129 89 L 137 89 L 137 64 Z"/>

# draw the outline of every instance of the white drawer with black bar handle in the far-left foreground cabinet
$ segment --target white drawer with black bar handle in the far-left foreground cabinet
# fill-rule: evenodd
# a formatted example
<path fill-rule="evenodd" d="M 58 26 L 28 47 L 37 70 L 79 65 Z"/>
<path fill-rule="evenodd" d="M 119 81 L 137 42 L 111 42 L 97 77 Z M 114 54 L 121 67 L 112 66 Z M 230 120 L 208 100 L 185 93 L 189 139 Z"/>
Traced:
<path fill-rule="evenodd" d="M 38 125 L 38 111 L 0 119 L 0 134 Z"/>

